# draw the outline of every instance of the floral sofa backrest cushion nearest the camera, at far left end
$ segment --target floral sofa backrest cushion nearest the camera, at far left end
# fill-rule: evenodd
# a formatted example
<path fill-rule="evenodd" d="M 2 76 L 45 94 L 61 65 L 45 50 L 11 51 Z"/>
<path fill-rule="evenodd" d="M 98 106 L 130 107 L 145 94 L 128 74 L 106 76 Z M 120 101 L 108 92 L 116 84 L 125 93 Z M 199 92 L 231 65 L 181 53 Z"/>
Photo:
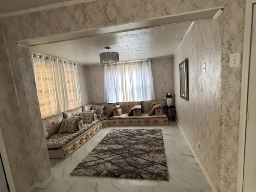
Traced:
<path fill-rule="evenodd" d="M 42 119 L 42 124 L 43 124 L 44 134 L 46 139 L 58 133 L 58 130 L 60 128 L 60 123 L 62 122 L 63 119 L 64 118 L 62 113 L 54 114 Z"/>

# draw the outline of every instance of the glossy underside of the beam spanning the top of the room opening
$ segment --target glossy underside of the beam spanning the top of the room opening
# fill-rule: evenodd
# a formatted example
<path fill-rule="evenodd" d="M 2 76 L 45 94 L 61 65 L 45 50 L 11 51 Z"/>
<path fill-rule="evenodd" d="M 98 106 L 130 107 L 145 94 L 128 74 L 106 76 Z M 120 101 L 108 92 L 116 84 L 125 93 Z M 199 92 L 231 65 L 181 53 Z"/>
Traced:
<path fill-rule="evenodd" d="M 15 41 L 16 44 L 23 44 L 27 46 L 35 46 L 41 44 L 49 44 L 55 42 L 62 42 L 66 40 L 74 40 L 80 38 L 86 38 L 90 36 L 97 36 L 101 34 L 109 34 L 115 32 L 129 31 L 129 30 L 137 30 L 142 28 L 151 28 L 155 26 L 164 26 L 188 21 L 196 21 L 207 18 L 213 18 L 217 12 L 224 9 L 224 6 L 196 10 L 191 12 L 185 12 L 181 14 L 173 14 L 168 16 L 162 16 L 157 18 L 150 18 L 135 22 L 127 22 L 124 24 L 116 24 L 111 26 L 105 26 L 101 28 L 93 28 L 88 30 L 82 30 L 78 32 L 70 32 L 66 34 L 58 34 L 52 36 L 44 36 L 39 38 L 31 38 L 26 40 Z"/>

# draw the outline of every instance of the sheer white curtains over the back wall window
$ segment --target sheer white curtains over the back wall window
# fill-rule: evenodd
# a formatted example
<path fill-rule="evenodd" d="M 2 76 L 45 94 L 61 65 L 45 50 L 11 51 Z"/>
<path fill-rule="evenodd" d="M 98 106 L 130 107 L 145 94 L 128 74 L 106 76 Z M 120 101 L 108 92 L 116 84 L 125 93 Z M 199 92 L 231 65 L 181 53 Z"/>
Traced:
<path fill-rule="evenodd" d="M 150 60 L 104 66 L 104 102 L 154 99 Z"/>

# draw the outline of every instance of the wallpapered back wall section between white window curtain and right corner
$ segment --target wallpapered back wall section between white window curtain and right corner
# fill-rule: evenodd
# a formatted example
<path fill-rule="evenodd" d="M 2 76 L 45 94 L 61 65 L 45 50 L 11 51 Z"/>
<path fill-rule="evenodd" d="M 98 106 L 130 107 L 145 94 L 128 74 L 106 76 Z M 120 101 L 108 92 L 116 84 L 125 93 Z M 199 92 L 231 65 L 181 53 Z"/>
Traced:
<path fill-rule="evenodd" d="M 173 57 L 151 60 L 156 100 L 163 100 L 166 92 L 174 93 Z"/>

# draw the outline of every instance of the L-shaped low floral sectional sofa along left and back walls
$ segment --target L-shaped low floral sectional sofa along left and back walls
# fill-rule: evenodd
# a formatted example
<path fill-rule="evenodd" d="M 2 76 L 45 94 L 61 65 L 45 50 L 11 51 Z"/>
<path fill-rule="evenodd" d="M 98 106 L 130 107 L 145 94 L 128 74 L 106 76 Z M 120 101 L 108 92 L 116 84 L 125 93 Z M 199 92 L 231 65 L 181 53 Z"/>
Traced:
<path fill-rule="evenodd" d="M 164 105 L 166 100 L 98 103 L 43 118 L 49 157 L 67 158 L 108 126 L 167 125 Z"/>

